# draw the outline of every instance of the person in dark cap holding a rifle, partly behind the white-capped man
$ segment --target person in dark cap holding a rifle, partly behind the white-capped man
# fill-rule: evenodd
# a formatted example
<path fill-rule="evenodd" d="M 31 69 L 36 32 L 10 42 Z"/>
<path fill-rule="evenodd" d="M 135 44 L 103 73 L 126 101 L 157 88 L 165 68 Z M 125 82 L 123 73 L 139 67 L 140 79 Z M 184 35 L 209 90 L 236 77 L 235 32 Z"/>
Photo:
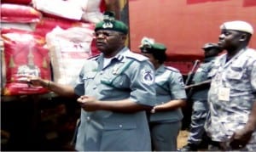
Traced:
<path fill-rule="evenodd" d="M 193 103 L 191 123 L 189 127 L 188 144 L 183 146 L 179 151 L 196 151 L 204 148 L 209 144 L 206 136 L 204 125 L 209 112 L 207 104 L 207 93 L 210 88 L 211 78 L 207 77 L 209 71 L 212 70 L 214 60 L 218 57 L 221 49 L 217 43 L 207 42 L 202 49 L 204 50 L 205 59 L 195 71 L 192 84 L 186 86 L 191 94 L 191 102 Z"/>

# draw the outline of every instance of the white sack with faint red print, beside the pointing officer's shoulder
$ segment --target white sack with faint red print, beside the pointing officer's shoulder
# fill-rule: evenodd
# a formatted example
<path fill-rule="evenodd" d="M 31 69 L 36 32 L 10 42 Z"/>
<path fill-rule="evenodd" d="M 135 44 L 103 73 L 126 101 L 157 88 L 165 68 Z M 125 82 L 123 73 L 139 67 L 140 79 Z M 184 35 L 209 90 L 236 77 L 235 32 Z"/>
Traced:
<path fill-rule="evenodd" d="M 54 82 L 73 85 L 79 77 L 84 60 L 89 58 L 93 30 L 72 27 L 63 30 L 56 27 L 46 35 Z"/>

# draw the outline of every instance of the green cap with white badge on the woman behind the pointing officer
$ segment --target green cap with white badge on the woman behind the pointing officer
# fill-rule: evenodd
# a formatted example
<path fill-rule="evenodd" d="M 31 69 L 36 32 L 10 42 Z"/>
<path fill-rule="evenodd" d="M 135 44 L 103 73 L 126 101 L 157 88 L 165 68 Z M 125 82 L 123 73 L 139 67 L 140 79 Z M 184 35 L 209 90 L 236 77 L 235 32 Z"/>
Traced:
<path fill-rule="evenodd" d="M 154 42 L 154 39 L 148 37 L 143 37 L 139 48 L 142 53 L 166 52 L 166 46 L 164 44 Z"/>

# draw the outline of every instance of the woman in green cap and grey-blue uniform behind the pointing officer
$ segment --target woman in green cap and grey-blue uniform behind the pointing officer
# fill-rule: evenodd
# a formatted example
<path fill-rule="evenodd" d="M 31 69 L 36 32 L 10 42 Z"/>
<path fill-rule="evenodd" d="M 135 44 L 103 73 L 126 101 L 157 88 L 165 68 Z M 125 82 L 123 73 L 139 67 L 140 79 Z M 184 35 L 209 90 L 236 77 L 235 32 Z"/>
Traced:
<path fill-rule="evenodd" d="M 156 104 L 149 115 L 153 150 L 177 150 L 177 135 L 183 119 L 181 107 L 186 99 L 183 76 L 179 70 L 164 65 L 165 45 L 144 37 L 139 48 L 155 70 Z"/>

